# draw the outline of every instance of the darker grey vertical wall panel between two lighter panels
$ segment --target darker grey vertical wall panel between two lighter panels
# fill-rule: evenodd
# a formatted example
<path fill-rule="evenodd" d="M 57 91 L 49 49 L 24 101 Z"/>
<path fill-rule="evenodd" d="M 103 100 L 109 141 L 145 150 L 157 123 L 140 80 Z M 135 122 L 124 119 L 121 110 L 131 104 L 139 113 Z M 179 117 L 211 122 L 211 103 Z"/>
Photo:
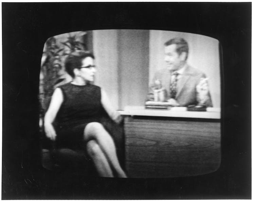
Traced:
<path fill-rule="evenodd" d="M 148 91 L 149 30 L 118 30 L 119 107 L 144 105 Z"/>

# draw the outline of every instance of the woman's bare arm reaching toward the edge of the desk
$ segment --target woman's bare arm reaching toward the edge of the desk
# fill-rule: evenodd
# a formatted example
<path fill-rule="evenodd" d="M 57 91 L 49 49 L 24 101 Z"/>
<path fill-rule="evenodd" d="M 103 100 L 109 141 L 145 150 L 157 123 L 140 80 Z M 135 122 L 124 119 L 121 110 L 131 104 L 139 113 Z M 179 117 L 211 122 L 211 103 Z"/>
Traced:
<path fill-rule="evenodd" d="M 118 111 L 113 109 L 111 102 L 103 89 L 101 89 L 101 103 L 106 112 L 108 113 L 109 117 L 113 121 L 115 121 L 116 123 L 120 123 L 122 121 L 122 116 L 120 115 L 120 113 L 118 113 Z"/>

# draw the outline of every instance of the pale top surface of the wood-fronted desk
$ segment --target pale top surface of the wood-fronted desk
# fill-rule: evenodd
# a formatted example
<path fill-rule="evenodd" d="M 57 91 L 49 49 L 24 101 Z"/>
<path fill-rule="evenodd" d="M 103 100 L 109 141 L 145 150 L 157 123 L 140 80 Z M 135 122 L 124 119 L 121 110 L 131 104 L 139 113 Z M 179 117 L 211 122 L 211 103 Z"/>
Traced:
<path fill-rule="evenodd" d="M 210 118 L 220 119 L 220 108 L 208 107 L 206 111 L 187 111 L 186 107 L 172 107 L 168 110 L 145 109 L 144 106 L 126 106 L 121 115 L 131 116 L 163 116 L 163 117 L 184 117 L 184 118 Z"/>

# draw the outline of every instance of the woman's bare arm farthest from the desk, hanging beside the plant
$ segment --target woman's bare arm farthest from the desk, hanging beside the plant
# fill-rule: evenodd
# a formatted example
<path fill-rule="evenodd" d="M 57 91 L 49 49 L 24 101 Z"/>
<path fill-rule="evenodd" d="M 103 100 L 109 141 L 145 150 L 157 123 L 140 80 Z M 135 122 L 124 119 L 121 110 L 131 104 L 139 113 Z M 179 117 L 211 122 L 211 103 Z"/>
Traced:
<path fill-rule="evenodd" d="M 59 108 L 63 102 L 63 95 L 60 88 L 56 88 L 51 99 L 48 111 L 44 116 L 44 131 L 48 138 L 55 140 L 56 132 L 53 128 L 52 122 L 54 121 Z"/>

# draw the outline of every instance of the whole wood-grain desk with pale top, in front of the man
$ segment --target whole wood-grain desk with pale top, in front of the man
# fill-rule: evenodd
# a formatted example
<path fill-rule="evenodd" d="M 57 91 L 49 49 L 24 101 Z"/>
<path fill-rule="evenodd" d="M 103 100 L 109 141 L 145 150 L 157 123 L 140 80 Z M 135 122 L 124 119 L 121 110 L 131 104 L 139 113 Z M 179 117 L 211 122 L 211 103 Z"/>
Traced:
<path fill-rule="evenodd" d="M 171 114 L 171 111 L 137 107 L 136 113 L 135 109 L 136 107 L 128 107 L 121 112 L 125 115 L 126 170 L 130 177 L 195 176 L 211 173 L 219 168 L 220 119 L 203 118 L 202 115 L 207 117 L 209 112 L 193 114 L 176 111 L 175 114 L 192 113 L 190 115 L 193 116 L 200 113 L 201 117 L 198 119 L 149 116 L 149 111 L 160 111 L 158 114 L 162 112 L 164 115 Z M 142 115 L 143 111 L 146 115 Z M 218 111 L 213 114 L 220 117 Z"/>

